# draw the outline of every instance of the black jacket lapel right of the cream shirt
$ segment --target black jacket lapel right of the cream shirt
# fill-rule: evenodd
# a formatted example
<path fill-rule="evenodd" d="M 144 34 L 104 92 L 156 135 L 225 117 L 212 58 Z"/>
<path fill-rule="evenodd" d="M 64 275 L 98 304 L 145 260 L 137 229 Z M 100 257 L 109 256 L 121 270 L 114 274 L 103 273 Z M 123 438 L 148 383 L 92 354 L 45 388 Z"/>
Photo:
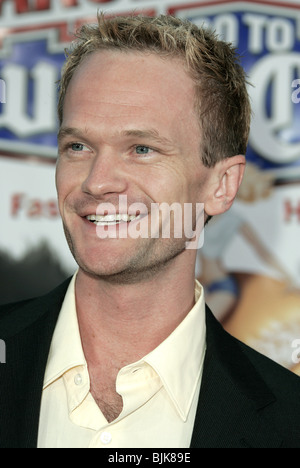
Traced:
<path fill-rule="evenodd" d="M 207 352 L 192 448 L 278 448 L 264 412 L 275 398 L 207 309 Z"/>

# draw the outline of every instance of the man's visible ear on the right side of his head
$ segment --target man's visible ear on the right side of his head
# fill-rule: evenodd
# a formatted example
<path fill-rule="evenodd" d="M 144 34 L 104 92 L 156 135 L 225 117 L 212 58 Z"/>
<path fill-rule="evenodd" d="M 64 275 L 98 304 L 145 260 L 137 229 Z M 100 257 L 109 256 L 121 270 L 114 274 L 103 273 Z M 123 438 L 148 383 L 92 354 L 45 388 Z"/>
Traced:
<path fill-rule="evenodd" d="M 246 166 L 245 156 L 224 159 L 212 169 L 211 194 L 205 203 L 205 212 L 216 216 L 232 206 L 242 183 Z"/>

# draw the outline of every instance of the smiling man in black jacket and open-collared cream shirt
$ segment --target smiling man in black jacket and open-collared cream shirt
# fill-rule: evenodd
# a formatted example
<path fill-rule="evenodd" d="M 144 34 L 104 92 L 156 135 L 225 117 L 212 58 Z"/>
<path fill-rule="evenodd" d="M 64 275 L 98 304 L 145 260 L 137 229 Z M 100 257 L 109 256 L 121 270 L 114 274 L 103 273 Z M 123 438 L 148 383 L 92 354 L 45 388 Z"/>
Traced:
<path fill-rule="evenodd" d="M 1 309 L 0 445 L 300 447 L 298 377 L 227 335 L 195 284 L 197 204 L 205 222 L 227 211 L 244 173 L 234 50 L 179 19 L 99 16 L 69 52 L 58 110 L 79 269 Z M 153 210 L 174 203 L 181 218 Z"/>

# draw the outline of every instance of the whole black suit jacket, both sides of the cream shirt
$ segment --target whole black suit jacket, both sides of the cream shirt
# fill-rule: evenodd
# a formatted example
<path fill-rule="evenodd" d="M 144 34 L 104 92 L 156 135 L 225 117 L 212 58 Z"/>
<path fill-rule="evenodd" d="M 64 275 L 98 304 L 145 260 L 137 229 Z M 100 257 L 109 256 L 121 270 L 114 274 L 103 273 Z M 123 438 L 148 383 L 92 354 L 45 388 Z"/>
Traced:
<path fill-rule="evenodd" d="M 49 347 L 69 281 L 0 308 L 0 447 L 37 446 Z M 192 448 L 300 448 L 300 379 L 228 335 L 207 309 Z"/>

